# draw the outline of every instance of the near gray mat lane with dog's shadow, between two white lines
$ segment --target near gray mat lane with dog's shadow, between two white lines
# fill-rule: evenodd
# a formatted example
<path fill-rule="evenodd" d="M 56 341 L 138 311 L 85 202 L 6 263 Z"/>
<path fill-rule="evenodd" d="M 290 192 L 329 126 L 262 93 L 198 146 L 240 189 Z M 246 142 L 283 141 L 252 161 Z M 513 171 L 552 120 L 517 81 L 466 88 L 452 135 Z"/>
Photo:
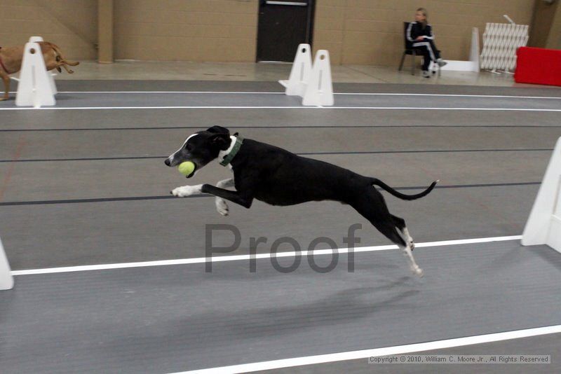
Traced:
<path fill-rule="evenodd" d="M 0 301 L 2 372 L 164 373 L 561 323 L 549 247 L 416 252 L 423 279 L 398 251 L 356 254 L 354 272 L 342 254 L 325 274 L 304 258 L 288 274 L 264 259 L 255 273 L 235 261 L 19 276 Z"/>

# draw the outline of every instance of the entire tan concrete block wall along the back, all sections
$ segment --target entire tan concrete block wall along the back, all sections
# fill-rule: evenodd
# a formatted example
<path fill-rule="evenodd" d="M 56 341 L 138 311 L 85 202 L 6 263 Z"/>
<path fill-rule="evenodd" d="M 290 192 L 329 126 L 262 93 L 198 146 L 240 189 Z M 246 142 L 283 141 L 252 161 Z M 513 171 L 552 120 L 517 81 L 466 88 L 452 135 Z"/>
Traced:
<path fill-rule="evenodd" d="M 443 57 L 467 60 L 471 28 L 532 22 L 536 0 L 316 0 L 313 48 L 332 64 L 393 66 L 403 21 L 428 9 Z M 114 0 L 114 57 L 130 60 L 254 62 L 258 0 Z M 95 60 L 97 0 L 1 0 L 0 46 L 37 34 L 68 57 Z"/>

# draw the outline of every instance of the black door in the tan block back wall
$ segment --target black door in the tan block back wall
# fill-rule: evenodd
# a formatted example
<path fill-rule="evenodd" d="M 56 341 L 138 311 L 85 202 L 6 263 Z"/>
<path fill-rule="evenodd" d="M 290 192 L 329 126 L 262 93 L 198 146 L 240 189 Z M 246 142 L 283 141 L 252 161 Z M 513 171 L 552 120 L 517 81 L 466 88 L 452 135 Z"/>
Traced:
<path fill-rule="evenodd" d="M 299 43 L 311 45 L 313 0 L 260 0 L 257 62 L 292 62 Z"/>

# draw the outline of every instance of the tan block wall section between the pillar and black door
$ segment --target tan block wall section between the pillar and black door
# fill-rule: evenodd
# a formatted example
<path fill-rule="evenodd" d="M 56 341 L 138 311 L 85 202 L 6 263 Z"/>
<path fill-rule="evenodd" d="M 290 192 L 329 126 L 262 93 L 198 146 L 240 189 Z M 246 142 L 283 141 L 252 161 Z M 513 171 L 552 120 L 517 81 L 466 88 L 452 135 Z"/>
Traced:
<path fill-rule="evenodd" d="M 257 0 L 116 0 L 115 58 L 253 62 Z"/>

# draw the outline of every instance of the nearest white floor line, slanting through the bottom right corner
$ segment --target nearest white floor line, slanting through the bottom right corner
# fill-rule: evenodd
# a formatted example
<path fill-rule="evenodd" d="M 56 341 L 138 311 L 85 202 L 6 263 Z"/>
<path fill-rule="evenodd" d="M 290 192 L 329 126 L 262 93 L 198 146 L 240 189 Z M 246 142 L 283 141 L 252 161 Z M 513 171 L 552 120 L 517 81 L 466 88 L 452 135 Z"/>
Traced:
<path fill-rule="evenodd" d="M 327 362 L 334 362 L 334 361 L 368 359 L 370 357 L 388 356 L 393 354 L 407 354 L 413 352 L 431 351 L 435 349 L 463 347 L 466 345 L 475 345 L 475 344 L 482 344 L 487 342 L 500 342 L 503 340 L 529 338 L 531 336 L 547 335 L 552 333 L 561 333 L 561 325 L 545 326 L 545 327 L 538 327 L 538 328 L 527 328 L 525 330 L 506 331 L 503 333 L 491 333 L 485 335 L 474 335 L 474 336 L 467 336 L 465 338 L 436 340 L 433 342 L 421 342 L 421 343 L 409 344 L 409 345 L 397 345 L 394 347 L 364 349 L 360 351 L 339 352 L 333 354 L 320 354 L 317 356 L 296 357 L 293 359 L 280 359 L 274 361 L 245 363 L 245 364 L 234 365 L 234 366 L 222 366 L 218 368 L 184 371 L 175 374 L 248 373 L 257 370 L 291 368 L 295 366 L 313 365 L 318 363 L 327 363 Z"/>

